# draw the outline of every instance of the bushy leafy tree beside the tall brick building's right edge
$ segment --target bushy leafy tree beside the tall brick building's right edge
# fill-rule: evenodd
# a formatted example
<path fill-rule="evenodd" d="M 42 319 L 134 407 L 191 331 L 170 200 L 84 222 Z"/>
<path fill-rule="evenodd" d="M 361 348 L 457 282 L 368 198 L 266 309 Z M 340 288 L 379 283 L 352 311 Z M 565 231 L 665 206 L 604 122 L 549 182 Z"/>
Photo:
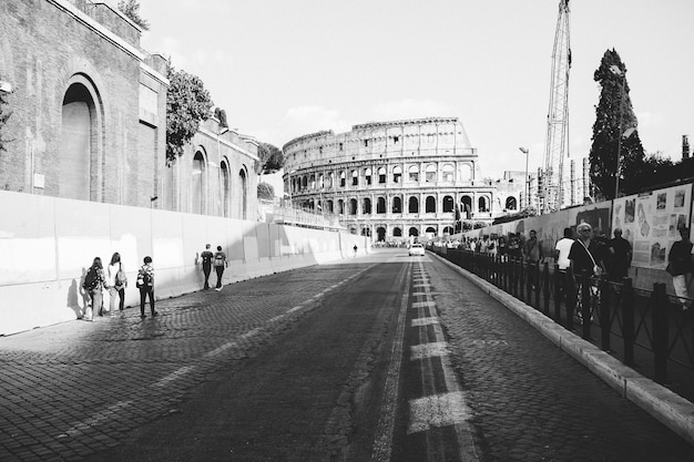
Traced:
<path fill-rule="evenodd" d="M 212 99 L 202 80 L 169 66 L 166 93 L 166 162 L 183 154 L 183 146 L 197 133 L 200 123 L 212 115 Z"/>

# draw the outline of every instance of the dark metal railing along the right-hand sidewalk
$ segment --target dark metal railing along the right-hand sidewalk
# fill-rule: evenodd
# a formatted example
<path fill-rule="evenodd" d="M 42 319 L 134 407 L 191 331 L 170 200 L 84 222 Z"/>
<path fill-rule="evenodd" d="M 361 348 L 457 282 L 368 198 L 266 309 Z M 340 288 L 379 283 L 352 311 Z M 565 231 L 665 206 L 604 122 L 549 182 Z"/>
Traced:
<path fill-rule="evenodd" d="M 692 300 L 667 295 L 665 284 L 643 290 L 629 278 L 586 278 L 547 263 L 430 249 L 694 402 L 694 308 L 683 310 L 681 302 Z"/>

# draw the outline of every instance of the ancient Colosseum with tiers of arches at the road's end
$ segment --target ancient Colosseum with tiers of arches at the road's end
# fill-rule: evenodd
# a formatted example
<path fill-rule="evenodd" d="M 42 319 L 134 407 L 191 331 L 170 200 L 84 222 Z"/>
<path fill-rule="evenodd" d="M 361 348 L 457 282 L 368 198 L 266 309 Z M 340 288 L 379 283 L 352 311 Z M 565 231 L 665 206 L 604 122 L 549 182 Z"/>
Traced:
<path fill-rule="evenodd" d="M 340 215 L 375 240 L 452 233 L 491 222 L 496 187 L 481 179 L 477 148 L 457 117 L 354 125 L 299 136 L 283 147 L 284 187 L 296 206 Z"/>

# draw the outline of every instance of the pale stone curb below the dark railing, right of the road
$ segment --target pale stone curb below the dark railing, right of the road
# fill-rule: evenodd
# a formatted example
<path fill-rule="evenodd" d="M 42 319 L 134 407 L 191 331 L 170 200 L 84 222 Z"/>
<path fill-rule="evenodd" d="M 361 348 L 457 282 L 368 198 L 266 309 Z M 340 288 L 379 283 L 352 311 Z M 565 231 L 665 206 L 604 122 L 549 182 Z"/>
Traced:
<path fill-rule="evenodd" d="M 468 278 L 489 296 L 525 320 L 540 331 L 560 350 L 567 352 L 605 383 L 616 390 L 690 444 L 694 445 L 694 403 L 685 400 L 667 388 L 645 378 L 632 368 L 624 366 L 591 342 L 564 329 L 553 319 L 544 316 L 533 307 L 502 291 L 494 285 L 481 279 L 470 271 L 460 268 L 440 257 L 439 260 Z"/>

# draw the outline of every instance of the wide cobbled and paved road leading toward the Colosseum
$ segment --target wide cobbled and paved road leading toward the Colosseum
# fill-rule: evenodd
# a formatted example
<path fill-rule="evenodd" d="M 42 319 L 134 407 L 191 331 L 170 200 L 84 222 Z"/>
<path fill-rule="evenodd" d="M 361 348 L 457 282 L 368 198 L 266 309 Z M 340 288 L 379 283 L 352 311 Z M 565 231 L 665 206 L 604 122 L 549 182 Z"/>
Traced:
<path fill-rule="evenodd" d="M 0 461 L 688 461 L 438 259 L 380 250 L 0 338 Z"/>

